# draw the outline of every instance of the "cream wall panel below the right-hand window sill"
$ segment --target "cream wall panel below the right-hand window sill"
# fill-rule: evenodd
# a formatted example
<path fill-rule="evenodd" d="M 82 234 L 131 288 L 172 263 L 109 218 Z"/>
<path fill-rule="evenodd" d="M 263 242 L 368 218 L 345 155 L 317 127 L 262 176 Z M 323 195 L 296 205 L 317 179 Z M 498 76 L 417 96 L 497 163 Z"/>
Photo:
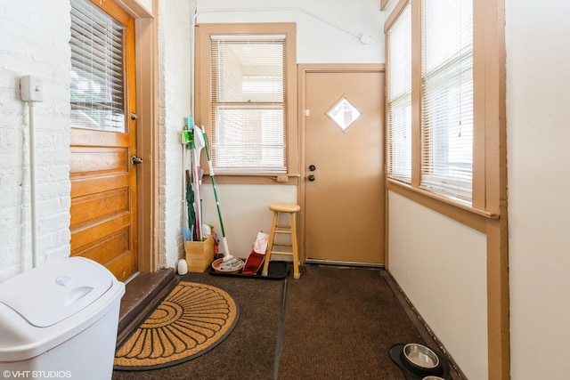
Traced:
<path fill-rule="evenodd" d="M 486 237 L 390 191 L 390 272 L 470 379 L 487 378 Z"/>

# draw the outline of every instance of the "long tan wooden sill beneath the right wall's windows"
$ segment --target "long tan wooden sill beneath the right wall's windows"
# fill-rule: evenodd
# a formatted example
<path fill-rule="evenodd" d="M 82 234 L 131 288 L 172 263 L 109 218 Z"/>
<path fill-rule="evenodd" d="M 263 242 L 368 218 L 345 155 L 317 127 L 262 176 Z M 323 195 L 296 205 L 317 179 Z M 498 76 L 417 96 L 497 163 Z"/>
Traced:
<path fill-rule="evenodd" d="M 387 190 L 394 191 L 404 198 L 411 199 L 422 206 L 426 206 L 439 214 L 444 214 L 481 232 L 486 231 L 486 222 L 488 220 L 497 220 L 501 217 L 500 214 L 462 205 L 450 198 L 439 196 L 427 190 L 413 188 L 408 183 L 399 182 L 391 178 L 387 178 Z"/>

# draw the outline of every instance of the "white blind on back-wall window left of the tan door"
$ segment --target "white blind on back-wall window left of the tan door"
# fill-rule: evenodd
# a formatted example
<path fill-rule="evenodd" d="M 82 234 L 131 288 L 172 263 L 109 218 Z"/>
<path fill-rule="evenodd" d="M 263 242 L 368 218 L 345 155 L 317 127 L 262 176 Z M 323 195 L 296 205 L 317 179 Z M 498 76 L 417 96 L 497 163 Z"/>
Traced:
<path fill-rule="evenodd" d="M 286 174 L 285 36 L 211 37 L 216 173 Z"/>

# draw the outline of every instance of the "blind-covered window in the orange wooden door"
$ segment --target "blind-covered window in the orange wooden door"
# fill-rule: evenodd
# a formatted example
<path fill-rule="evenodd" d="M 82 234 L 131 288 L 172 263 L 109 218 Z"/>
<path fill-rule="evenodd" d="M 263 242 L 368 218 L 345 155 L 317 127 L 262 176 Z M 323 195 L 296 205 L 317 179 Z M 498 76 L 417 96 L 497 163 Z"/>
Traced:
<path fill-rule="evenodd" d="M 71 125 L 125 132 L 123 26 L 88 0 L 71 0 Z"/>

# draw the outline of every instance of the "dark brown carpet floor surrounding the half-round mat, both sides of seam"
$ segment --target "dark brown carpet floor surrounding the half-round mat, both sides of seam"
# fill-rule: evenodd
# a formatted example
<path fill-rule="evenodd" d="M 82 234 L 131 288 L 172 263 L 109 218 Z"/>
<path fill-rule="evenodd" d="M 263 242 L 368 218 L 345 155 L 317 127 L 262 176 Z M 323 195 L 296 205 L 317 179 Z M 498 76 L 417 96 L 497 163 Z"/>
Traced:
<path fill-rule="evenodd" d="M 405 376 L 390 359 L 390 348 L 426 344 L 383 270 L 305 265 L 300 279 L 290 274 L 285 280 L 244 279 L 208 272 L 182 279 L 232 295 L 240 305 L 240 321 L 232 334 L 194 360 L 151 371 L 115 371 L 114 380 L 397 380 Z"/>

